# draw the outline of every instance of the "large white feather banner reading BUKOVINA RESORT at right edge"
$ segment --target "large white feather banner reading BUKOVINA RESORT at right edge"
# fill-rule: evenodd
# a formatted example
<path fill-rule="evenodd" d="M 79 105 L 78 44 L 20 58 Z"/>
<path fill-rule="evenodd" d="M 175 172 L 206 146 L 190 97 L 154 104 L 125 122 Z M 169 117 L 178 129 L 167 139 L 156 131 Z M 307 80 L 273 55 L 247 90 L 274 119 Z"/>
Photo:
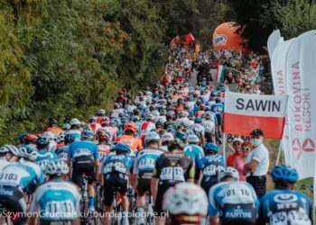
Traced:
<path fill-rule="evenodd" d="M 315 58 L 316 31 L 308 31 L 293 41 L 286 59 L 291 166 L 297 169 L 300 179 L 315 174 Z"/>

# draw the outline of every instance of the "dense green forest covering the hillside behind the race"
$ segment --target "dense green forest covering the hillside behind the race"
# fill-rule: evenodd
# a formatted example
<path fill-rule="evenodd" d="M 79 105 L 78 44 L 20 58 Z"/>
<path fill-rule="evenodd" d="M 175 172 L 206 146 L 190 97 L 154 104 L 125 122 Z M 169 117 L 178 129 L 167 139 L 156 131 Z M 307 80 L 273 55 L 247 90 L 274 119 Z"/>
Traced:
<path fill-rule="evenodd" d="M 163 73 L 166 46 L 189 31 L 203 49 L 216 26 L 245 25 L 265 50 L 271 31 L 286 39 L 315 28 L 314 1 L 3 0 L 0 2 L 0 143 L 42 129 L 48 118 L 84 119 Z"/>

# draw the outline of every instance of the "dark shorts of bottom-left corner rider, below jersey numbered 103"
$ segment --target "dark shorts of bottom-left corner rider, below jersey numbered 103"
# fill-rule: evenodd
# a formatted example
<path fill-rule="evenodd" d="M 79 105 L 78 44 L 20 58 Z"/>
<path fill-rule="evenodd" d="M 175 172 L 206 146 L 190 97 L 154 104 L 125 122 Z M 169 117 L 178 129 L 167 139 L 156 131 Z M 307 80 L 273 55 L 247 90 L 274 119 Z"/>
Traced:
<path fill-rule="evenodd" d="M 5 211 L 23 213 L 26 207 L 22 189 L 15 186 L 0 186 L 0 211 L 3 211 L 3 215 Z M 24 224 L 27 217 L 20 214 L 19 217 L 14 216 L 12 220 L 14 224 Z"/>

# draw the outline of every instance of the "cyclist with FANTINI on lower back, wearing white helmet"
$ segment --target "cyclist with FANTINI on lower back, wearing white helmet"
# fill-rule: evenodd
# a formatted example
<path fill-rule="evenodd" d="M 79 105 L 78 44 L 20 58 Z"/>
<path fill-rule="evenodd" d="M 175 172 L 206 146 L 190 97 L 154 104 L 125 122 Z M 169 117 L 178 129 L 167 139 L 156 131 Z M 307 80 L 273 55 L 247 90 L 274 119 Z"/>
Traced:
<path fill-rule="evenodd" d="M 259 208 L 256 192 L 251 184 L 238 179 L 238 171 L 233 167 L 218 172 L 220 183 L 209 190 L 210 225 L 256 224 Z"/>

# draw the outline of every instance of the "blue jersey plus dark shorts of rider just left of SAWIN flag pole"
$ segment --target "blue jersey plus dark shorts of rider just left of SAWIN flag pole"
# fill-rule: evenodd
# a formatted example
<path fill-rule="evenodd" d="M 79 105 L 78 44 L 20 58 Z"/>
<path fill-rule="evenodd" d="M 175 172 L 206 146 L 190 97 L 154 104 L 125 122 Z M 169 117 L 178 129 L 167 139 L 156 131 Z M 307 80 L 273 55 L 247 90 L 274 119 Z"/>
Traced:
<path fill-rule="evenodd" d="M 222 156 L 202 157 L 198 166 L 203 175 L 200 186 L 209 193 L 209 188 L 218 184 L 218 171 L 225 167 L 225 158 Z"/>

